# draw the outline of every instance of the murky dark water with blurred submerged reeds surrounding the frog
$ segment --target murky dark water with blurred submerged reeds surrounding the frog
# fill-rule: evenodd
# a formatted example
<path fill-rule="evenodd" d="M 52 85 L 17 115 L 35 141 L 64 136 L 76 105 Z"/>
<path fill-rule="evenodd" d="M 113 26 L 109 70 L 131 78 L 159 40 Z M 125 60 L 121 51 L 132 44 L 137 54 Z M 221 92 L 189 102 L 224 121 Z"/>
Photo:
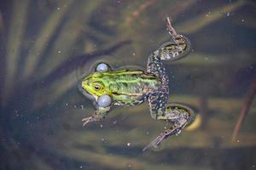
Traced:
<path fill-rule="evenodd" d="M 246 0 L 1 1 L 0 169 L 256 169 L 255 9 Z M 145 68 L 168 41 L 166 16 L 192 48 L 165 63 L 169 100 L 195 107 L 200 126 L 145 152 L 166 125 L 146 102 L 82 127 L 95 108 L 80 77 L 99 60 Z"/>

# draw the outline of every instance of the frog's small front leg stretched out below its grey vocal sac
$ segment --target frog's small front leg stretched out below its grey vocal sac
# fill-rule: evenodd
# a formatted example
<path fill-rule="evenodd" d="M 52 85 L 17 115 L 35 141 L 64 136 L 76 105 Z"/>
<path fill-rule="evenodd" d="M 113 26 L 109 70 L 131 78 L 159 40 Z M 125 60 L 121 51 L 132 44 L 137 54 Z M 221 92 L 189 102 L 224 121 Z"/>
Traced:
<path fill-rule="evenodd" d="M 108 114 L 108 111 L 110 111 L 110 106 L 108 106 L 108 107 L 101 107 L 100 106 L 96 110 L 94 115 L 89 116 L 89 117 L 85 117 L 84 119 L 82 119 L 83 126 L 85 126 L 89 122 L 96 122 L 96 121 L 101 120 L 102 118 L 104 118 Z"/>

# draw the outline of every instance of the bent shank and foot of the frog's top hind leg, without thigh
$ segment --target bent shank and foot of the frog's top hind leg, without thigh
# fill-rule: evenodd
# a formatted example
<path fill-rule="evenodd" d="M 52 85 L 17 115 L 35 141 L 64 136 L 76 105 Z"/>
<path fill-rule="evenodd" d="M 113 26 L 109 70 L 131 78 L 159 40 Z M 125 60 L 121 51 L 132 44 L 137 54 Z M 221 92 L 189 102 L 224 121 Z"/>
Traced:
<path fill-rule="evenodd" d="M 172 36 L 173 42 L 166 42 L 159 48 L 160 59 L 175 60 L 180 59 L 189 53 L 190 43 L 186 37 L 177 34 L 171 24 L 171 20 L 167 17 L 166 30 Z"/>

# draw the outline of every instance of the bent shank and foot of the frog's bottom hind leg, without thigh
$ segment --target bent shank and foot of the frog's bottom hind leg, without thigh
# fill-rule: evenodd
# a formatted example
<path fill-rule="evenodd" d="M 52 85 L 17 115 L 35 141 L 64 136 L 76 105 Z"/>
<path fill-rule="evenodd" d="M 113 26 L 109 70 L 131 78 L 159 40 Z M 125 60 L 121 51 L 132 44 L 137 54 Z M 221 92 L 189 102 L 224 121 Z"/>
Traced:
<path fill-rule="evenodd" d="M 191 121 L 193 115 L 194 111 L 186 105 L 177 103 L 168 104 L 165 115 L 157 116 L 157 119 L 173 122 L 172 127 L 166 128 L 164 132 L 160 133 L 143 150 L 147 150 L 150 147 L 158 148 L 162 140 L 169 136 L 181 133 L 183 128 L 186 127 L 186 125 L 188 125 L 188 123 Z"/>

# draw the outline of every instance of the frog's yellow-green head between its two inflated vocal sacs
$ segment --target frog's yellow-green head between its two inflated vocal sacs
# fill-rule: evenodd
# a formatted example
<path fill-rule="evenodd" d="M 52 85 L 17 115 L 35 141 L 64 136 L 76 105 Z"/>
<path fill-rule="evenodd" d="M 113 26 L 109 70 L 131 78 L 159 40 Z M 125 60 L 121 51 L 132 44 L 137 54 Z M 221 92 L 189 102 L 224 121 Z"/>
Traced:
<path fill-rule="evenodd" d="M 82 81 L 82 88 L 85 90 L 86 93 L 94 96 L 97 100 L 99 96 L 103 94 L 108 94 L 108 89 L 106 89 L 104 82 L 104 73 L 100 71 L 96 71 L 90 74 L 88 77 L 85 77 Z"/>

